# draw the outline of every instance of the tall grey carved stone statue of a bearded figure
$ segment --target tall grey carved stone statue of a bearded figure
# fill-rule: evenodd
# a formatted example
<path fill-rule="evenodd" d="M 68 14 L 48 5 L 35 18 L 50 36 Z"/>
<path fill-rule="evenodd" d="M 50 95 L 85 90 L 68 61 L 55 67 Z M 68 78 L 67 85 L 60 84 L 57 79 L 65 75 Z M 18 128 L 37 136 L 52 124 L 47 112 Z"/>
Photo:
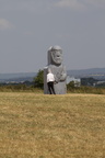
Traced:
<path fill-rule="evenodd" d="M 62 64 L 62 49 L 60 46 L 51 46 L 48 49 L 48 65 L 44 69 L 44 92 L 48 93 L 47 84 L 46 84 L 46 74 L 51 70 L 55 76 L 55 92 L 56 94 L 65 94 L 67 93 L 66 87 L 66 78 L 67 71 L 66 67 Z"/>

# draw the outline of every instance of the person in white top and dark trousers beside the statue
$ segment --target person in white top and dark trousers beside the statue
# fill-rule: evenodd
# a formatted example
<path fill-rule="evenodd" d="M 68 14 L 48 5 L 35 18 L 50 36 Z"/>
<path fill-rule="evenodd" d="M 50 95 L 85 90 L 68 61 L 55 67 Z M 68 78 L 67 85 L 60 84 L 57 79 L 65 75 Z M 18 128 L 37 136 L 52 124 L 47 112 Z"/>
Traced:
<path fill-rule="evenodd" d="M 55 93 L 55 89 L 54 89 L 54 82 L 55 82 L 55 77 L 54 74 L 51 72 L 51 70 L 48 70 L 47 74 L 47 86 L 48 86 L 48 90 L 50 94 L 56 94 Z"/>

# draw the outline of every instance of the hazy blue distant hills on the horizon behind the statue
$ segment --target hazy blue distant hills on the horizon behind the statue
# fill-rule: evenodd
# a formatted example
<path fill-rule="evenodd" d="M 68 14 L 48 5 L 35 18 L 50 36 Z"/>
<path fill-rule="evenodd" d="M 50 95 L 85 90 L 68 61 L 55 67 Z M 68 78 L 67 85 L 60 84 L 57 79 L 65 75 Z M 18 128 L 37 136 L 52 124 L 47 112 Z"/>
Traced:
<path fill-rule="evenodd" d="M 90 68 L 67 70 L 68 76 L 75 78 L 93 77 L 95 79 L 105 80 L 105 68 Z M 18 74 L 0 74 L 0 82 L 5 81 L 33 81 L 37 72 L 18 72 Z"/>

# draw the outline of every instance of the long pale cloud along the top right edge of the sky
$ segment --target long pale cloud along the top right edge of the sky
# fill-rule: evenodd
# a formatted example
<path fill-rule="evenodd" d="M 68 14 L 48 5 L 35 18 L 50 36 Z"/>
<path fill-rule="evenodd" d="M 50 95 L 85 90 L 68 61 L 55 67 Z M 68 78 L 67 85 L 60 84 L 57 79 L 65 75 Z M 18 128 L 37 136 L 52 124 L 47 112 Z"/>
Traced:
<path fill-rule="evenodd" d="M 84 10 L 89 5 L 96 8 L 105 8 L 105 0 L 58 0 L 56 7 L 70 8 L 72 10 Z"/>

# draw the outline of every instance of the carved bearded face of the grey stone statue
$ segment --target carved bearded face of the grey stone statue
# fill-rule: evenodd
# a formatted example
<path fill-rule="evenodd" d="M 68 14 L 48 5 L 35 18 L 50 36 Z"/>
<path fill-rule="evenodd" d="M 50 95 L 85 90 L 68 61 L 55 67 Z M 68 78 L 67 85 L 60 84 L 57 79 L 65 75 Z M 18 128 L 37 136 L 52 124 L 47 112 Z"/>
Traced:
<path fill-rule="evenodd" d="M 51 59 L 56 65 L 60 65 L 62 63 L 62 50 L 60 49 L 52 50 Z"/>

